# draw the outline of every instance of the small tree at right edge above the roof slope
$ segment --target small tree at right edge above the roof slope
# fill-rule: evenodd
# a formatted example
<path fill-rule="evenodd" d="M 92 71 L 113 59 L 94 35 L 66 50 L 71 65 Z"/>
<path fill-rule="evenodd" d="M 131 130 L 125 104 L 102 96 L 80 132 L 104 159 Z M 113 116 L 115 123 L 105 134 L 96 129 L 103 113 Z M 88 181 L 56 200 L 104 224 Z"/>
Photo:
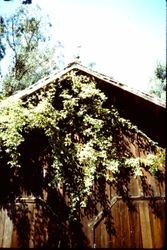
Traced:
<path fill-rule="evenodd" d="M 166 67 L 165 65 L 158 63 L 154 71 L 154 77 L 151 79 L 149 92 L 155 97 L 161 100 L 165 100 L 166 97 Z"/>

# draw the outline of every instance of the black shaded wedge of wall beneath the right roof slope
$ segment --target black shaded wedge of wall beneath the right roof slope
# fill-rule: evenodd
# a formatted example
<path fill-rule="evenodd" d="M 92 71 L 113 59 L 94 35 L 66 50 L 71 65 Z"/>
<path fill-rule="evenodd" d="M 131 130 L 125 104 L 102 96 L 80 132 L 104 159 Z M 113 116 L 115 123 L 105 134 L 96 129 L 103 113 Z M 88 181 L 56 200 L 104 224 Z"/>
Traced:
<path fill-rule="evenodd" d="M 166 146 L 166 109 L 129 91 L 98 80 L 98 88 L 108 97 L 107 106 L 118 108 L 121 116 L 129 119 L 161 147 Z"/>

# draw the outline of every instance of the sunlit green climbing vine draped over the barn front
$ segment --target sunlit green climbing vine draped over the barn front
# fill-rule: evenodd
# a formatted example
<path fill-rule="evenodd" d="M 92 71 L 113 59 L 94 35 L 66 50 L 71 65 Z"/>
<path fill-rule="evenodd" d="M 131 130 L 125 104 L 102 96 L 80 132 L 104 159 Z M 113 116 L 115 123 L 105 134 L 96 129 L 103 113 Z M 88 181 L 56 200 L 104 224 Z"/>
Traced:
<path fill-rule="evenodd" d="M 134 176 L 142 174 L 141 159 L 133 158 L 122 145 L 123 134 L 131 142 L 136 141 L 137 134 L 148 151 L 156 148 L 130 121 L 121 118 L 114 107 L 104 108 L 105 100 L 93 79 L 71 73 L 51 84 L 47 91 L 28 97 L 26 102 L 13 96 L 0 103 L 1 157 L 5 153 L 10 167 L 21 168 L 19 147 L 24 135 L 42 130 L 51 147 L 48 187 L 56 188 L 63 183 L 71 220 L 79 218 L 80 208 L 85 211 L 90 208 L 90 200 L 95 207 L 100 203 L 104 213 L 109 211 L 105 183 L 114 183 L 122 168 L 131 169 Z M 150 168 L 155 165 L 154 160 L 153 155 L 151 164 L 147 160 Z"/>

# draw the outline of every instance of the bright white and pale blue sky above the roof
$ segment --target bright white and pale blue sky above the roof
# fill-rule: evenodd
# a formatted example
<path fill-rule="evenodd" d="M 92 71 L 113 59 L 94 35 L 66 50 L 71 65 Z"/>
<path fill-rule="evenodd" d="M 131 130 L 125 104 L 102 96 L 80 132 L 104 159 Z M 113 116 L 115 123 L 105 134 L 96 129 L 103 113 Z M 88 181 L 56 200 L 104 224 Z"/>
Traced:
<path fill-rule="evenodd" d="M 0 0 L 0 12 L 14 11 L 20 2 Z M 95 62 L 97 71 L 142 91 L 157 62 L 165 63 L 165 0 L 32 2 L 50 15 L 53 39 L 64 45 L 66 63 L 79 50 L 83 64 Z"/>

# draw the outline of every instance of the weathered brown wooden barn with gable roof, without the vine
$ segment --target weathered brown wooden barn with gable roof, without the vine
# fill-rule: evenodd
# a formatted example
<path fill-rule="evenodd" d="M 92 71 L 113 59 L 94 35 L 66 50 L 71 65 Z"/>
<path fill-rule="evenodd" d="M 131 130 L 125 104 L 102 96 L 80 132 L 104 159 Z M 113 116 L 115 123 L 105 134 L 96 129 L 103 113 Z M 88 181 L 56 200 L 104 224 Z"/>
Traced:
<path fill-rule="evenodd" d="M 165 112 L 163 103 L 153 97 L 114 81 L 111 77 L 94 72 L 78 63 L 72 63 L 56 75 L 43 79 L 31 87 L 14 95 L 26 100 L 41 89 L 56 82 L 74 71 L 77 75 L 94 77 L 97 87 L 108 97 L 106 106 L 113 104 L 121 116 L 129 119 L 149 138 L 165 148 Z M 129 144 L 134 157 L 140 157 L 144 151 L 135 144 Z M 165 245 L 165 180 L 156 178 L 149 172 L 145 178 L 131 178 L 128 181 L 129 197 L 121 194 L 106 184 L 113 217 L 113 232 L 109 235 L 105 229 L 103 213 L 92 218 L 84 216 L 81 224 L 73 227 L 66 224 L 67 208 L 64 190 L 59 193 L 46 194 L 41 190 L 43 172 L 39 175 L 41 165 L 46 167 L 39 155 L 44 150 L 47 139 L 41 132 L 32 133 L 24 142 L 22 165 L 24 186 L 33 190 L 33 196 L 17 197 L 12 194 L 7 180 L 7 173 L 1 171 L 1 210 L 0 210 L 0 247 L 93 247 L 93 248 L 161 248 Z M 33 166 L 30 159 L 38 159 Z M 49 164 L 49 162 L 47 162 Z M 32 166 L 31 166 L 32 165 Z M 160 166 L 164 174 L 164 166 Z M 32 170 L 33 169 L 33 170 Z M 35 171 L 34 171 L 35 169 Z M 32 171 L 31 171 L 32 170 Z M 40 184 L 36 177 L 40 176 Z M 6 179 L 5 179 L 6 178 Z M 2 181 L 3 180 L 3 181 Z M 120 179 L 124 185 L 125 179 Z M 126 188 L 126 185 L 125 185 Z M 14 190 L 13 190 L 14 192 Z M 16 197 L 14 200 L 12 197 Z M 131 203 L 133 202 L 133 206 Z M 128 206 L 129 204 L 129 206 Z M 131 207 L 131 209 L 130 209 Z M 64 211 L 64 212 L 63 212 Z"/>

